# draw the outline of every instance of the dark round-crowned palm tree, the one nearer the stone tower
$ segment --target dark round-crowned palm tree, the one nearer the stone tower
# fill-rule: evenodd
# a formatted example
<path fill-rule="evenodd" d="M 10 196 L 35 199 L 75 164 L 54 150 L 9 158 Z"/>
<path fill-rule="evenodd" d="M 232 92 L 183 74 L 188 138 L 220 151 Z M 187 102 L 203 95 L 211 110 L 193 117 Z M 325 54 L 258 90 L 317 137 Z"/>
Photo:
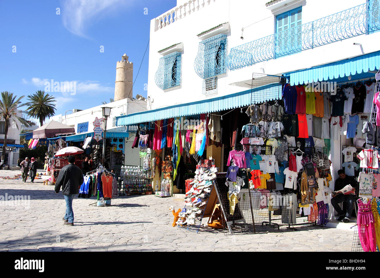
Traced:
<path fill-rule="evenodd" d="M 40 126 L 43 126 L 46 118 L 54 116 L 55 113 L 54 96 L 45 94 L 44 91 L 36 91 L 32 96 L 28 96 L 27 112 L 30 116 L 40 119 Z"/>

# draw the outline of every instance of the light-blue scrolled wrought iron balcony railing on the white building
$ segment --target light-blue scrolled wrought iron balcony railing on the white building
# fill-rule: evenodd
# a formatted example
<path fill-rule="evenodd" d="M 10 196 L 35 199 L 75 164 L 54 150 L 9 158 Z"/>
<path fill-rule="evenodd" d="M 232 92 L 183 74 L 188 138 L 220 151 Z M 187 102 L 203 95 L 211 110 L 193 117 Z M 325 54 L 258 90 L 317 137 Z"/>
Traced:
<path fill-rule="evenodd" d="M 379 0 L 231 48 L 231 70 L 380 30 Z"/>

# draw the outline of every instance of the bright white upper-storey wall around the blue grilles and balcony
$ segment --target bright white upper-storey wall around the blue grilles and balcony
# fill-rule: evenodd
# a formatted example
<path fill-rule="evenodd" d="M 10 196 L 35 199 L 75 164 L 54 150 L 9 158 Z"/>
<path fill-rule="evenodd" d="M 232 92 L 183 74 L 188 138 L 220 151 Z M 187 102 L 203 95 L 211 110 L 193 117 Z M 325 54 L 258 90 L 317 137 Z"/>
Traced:
<path fill-rule="evenodd" d="M 202 1 L 200 0 L 200 2 Z M 206 99 L 207 97 L 202 94 L 203 79 L 194 70 L 194 60 L 198 53 L 199 41 L 201 41 L 196 35 L 221 23 L 229 22 L 230 34 L 227 34 L 228 54 L 232 47 L 271 35 L 275 32 L 275 15 L 266 8 L 265 2 L 252 0 L 212 0 L 210 5 L 206 3 L 203 8 L 200 7 L 199 10 L 195 8 L 195 11 L 190 11 L 190 14 L 188 14 L 189 10 L 187 8 L 185 17 L 157 31 L 155 31 L 157 23 L 155 19 L 152 19 L 150 22 L 149 88 L 147 95 L 153 99 L 153 102 L 148 102 L 148 109 Z M 365 2 L 366 0 L 304 1 L 306 5 L 302 6 L 302 24 Z M 177 3 L 182 2 L 178 1 Z M 176 8 L 178 8 L 178 5 Z M 243 33 L 244 40 L 240 39 L 242 27 L 246 27 Z M 365 53 L 377 51 L 379 48 L 375 42 L 379 39 L 380 32 L 371 35 L 361 35 L 287 57 L 257 63 L 243 69 L 235 71 L 227 69 L 227 75 L 218 78 L 218 94 L 212 97 L 220 97 L 247 90 L 248 88 L 229 84 L 250 80 L 253 72 L 264 71 L 266 74 L 277 75 L 361 55 L 360 47 L 354 46 L 353 42 L 361 43 Z M 162 57 L 162 55 L 158 54 L 158 50 L 179 42 L 184 44 L 181 67 L 182 86 L 179 89 L 164 92 L 155 84 L 155 72 L 157 71 L 160 57 Z"/>

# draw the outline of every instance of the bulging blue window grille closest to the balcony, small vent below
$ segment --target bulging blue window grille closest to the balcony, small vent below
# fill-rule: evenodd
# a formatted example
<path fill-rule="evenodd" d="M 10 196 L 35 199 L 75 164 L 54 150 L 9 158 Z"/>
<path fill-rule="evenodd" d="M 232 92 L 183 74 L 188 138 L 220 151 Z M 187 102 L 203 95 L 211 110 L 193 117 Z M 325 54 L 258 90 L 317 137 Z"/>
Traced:
<path fill-rule="evenodd" d="M 199 42 L 194 61 L 196 74 L 208 79 L 226 73 L 227 36 L 216 35 Z"/>

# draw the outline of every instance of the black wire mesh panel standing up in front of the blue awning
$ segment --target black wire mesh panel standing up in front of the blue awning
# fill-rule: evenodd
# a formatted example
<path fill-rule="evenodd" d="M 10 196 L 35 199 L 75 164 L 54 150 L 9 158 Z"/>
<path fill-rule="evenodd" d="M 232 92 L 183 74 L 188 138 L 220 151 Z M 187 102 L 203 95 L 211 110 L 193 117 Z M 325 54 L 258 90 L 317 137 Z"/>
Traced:
<path fill-rule="evenodd" d="M 282 98 L 286 77 L 262 73 L 252 74 L 251 103 L 261 103 Z"/>

